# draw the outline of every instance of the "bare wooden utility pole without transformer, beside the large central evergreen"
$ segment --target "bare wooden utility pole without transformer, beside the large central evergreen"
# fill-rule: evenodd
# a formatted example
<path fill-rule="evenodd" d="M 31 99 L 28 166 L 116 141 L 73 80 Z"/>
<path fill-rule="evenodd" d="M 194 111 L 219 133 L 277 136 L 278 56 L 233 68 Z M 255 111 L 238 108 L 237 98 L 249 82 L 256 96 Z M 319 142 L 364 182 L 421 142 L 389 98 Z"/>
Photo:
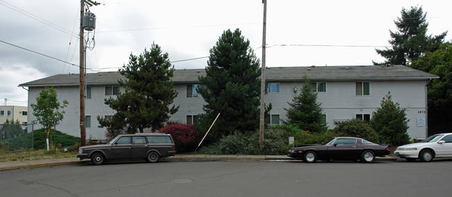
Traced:
<path fill-rule="evenodd" d="M 265 48 L 266 48 L 266 26 L 267 26 L 267 0 L 264 3 L 264 22 L 262 30 L 262 72 L 261 72 L 261 113 L 259 122 L 259 148 L 264 148 L 264 119 L 265 119 Z"/>

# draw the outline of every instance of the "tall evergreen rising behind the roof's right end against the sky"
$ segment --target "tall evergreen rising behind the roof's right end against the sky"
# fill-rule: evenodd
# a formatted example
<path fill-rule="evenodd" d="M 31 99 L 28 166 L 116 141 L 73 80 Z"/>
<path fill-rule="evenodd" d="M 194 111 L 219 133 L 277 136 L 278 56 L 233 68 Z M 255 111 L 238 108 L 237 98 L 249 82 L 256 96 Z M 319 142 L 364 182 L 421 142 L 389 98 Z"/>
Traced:
<path fill-rule="evenodd" d="M 374 65 L 408 65 L 426 52 L 438 49 L 446 37 L 447 31 L 438 36 L 427 36 L 427 13 L 423 13 L 422 7 L 405 8 L 401 11 L 401 17 L 394 21 L 398 31 L 389 30 L 392 49 L 376 49 L 376 52 L 387 61 L 373 62 Z"/>

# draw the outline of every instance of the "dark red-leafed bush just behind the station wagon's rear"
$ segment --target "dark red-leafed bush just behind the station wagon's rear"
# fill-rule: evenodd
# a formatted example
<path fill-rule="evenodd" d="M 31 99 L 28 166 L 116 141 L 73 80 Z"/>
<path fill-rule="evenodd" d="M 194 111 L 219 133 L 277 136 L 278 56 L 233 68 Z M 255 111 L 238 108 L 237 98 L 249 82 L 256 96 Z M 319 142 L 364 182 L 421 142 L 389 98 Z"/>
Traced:
<path fill-rule="evenodd" d="M 171 134 L 175 141 L 177 152 L 194 151 L 200 142 L 201 134 L 197 132 L 195 125 L 176 123 L 167 125 L 159 130 L 160 133 Z"/>

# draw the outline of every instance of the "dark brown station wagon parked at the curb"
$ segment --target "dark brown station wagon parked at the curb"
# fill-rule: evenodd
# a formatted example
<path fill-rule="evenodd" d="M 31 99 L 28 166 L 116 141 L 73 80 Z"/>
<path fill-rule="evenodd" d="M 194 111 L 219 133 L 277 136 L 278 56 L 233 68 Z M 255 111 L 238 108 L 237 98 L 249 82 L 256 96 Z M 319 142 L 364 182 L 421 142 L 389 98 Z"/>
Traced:
<path fill-rule="evenodd" d="M 170 134 L 122 134 L 107 144 L 80 147 L 77 158 L 91 159 L 95 165 L 114 159 L 146 159 L 154 163 L 175 153 L 175 143 Z"/>

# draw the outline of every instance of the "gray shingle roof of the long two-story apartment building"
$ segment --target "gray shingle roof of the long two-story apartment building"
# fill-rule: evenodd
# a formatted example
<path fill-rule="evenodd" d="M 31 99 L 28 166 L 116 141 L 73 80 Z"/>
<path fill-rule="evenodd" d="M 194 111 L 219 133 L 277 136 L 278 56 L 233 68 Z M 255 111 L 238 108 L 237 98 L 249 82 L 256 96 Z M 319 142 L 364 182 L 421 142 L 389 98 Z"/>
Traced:
<path fill-rule="evenodd" d="M 204 69 L 175 70 L 172 81 L 197 83 L 197 77 L 205 75 Z M 382 67 L 367 66 L 321 66 L 321 67 L 273 67 L 266 69 L 266 81 L 301 81 L 306 74 L 312 81 L 351 80 L 425 80 L 437 79 L 435 74 L 422 72 L 403 65 Z M 90 86 L 115 85 L 124 79 L 118 72 L 97 72 L 86 74 L 86 84 Z M 51 77 L 29 81 L 19 86 L 79 86 L 79 74 L 56 74 Z"/>

